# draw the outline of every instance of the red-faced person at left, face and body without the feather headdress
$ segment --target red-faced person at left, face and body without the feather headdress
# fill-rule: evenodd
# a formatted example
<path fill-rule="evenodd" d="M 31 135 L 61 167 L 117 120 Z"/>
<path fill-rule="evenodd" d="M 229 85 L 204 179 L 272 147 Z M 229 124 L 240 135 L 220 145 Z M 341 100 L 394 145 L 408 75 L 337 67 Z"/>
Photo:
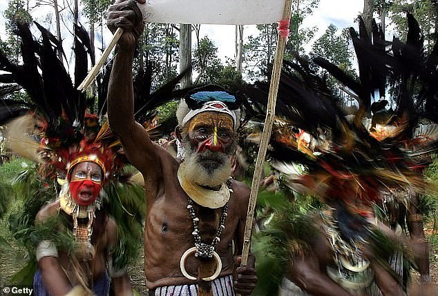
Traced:
<path fill-rule="evenodd" d="M 78 248 L 71 256 L 57 250 L 51 241 L 39 242 L 35 295 L 106 296 L 111 280 L 115 295 L 133 295 L 126 268 L 112 264 L 117 225 L 101 208 L 104 176 L 105 164 L 96 155 L 77 157 L 68 168 L 59 200 L 39 210 L 36 224 L 57 215 L 66 217 Z"/>

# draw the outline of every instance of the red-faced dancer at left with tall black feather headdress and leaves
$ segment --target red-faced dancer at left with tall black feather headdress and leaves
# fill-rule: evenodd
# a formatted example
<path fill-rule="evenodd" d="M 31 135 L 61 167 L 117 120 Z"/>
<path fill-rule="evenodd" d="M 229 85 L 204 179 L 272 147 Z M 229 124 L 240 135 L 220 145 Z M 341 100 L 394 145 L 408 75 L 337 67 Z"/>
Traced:
<path fill-rule="evenodd" d="M 28 114 L 8 126 L 10 148 L 39 164 L 33 175 L 19 176 L 28 188 L 23 192 L 29 193 L 21 213 L 10 217 L 15 237 L 32 250 L 23 270 L 37 269 L 37 296 L 107 296 L 110 284 L 115 295 L 133 295 L 126 266 L 140 247 L 142 216 L 137 211 L 142 209 L 136 208 L 141 204 L 135 197 L 142 190 L 122 186 L 127 161 L 120 142 L 108 123 L 87 113 L 85 95 L 57 57 L 55 37 L 36 25 L 42 42 L 33 39 L 27 24 L 17 23 L 22 65 L 0 53 L 1 69 L 10 72 L 1 79 L 12 78 L 30 95 L 30 102 L 20 102 Z M 75 40 L 75 74 L 85 75 L 87 40 L 80 41 Z"/>

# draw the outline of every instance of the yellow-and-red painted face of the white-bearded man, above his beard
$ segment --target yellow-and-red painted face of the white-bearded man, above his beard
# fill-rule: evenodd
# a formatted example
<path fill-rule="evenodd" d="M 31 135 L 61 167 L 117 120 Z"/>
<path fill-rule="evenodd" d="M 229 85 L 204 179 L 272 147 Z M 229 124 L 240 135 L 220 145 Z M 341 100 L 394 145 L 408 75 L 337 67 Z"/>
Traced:
<path fill-rule="evenodd" d="M 202 112 L 187 125 L 189 141 L 196 152 L 229 152 L 234 135 L 231 116 L 220 112 Z"/>

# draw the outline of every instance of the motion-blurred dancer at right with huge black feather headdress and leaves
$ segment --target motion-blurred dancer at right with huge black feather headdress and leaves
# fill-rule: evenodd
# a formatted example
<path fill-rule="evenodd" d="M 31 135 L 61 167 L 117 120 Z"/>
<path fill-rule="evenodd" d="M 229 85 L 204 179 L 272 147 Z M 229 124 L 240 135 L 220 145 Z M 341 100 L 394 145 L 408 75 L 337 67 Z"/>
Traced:
<path fill-rule="evenodd" d="M 285 124 L 274 128 L 271 157 L 303 164 L 304 173 L 283 169 L 287 175 L 283 179 L 300 193 L 313 193 L 325 206 L 321 211 L 310 210 L 309 215 L 303 215 L 300 204 L 280 208 L 265 232 L 265 239 L 269 241 L 265 255 L 271 254 L 280 260 L 279 266 L 286 266 L 283 275 L 294 282 L 301 293 L 406 295 L 401 278 L 388 259 L 400 251 L 403 255 L 415 255 L 417 248 L 409 239 L 396 235 L 377 221 L 372 204 L 379 201 L 382 188 L 403 190 L 409 187 L 421 193 L 427 187 L 417 169 L 430 164 L 430 158 L 423 156 L 436 151 L 437 138 L 416 141 L 407 147 L 401 147 L 400 141 L 413 138 L 419 119 L 437 121 L 437 47 L 429 59 L 421 54 L 418 26 L 410 27 L 407 44 L 394 40 L 393 55 L 384 49 L 360 44 L 362 41 L 353 31 L 354 45 L 361 46 L 361 54 L 368 57 L 362 56 L 359 65 L 382 70 L 379 75 L 361 76 L 359 82 L 328 61 L 321 58 L 314 61 L 357 94 L 359 111 L 354 117 L 345 118 L 325 87 L 325 81 L 309 70 L 303 59 L 297 57 L 299 64 L 287 63 L 286 66 L 294 71 L 285 71 L 282 75 L 277 114 L 283 117 L 278 121 Z M 410 59 L 413 62 L 407 63 Z M 387 77 L 396 81 L 394 118 L 397 118 L 397 132 L 378 141 L 366 130 L 363 118 L 374 94 L 374 88 L 368 88 L 366 83 L 373 84 L 376 82 L 373 79 L 382 77 L 383 81 Z M 408 88 L 415 85 L 414 81 L 419 83 L 419 97 Z M 260 97 L 265 96 L 267 84 L 258 83 L 257 87 Z M 252 90 L 251 98 L 258 98 L 256 91 Z M 426 108 L 418 106 L 423 102 Z M 312 115 L 311 120 L 308 115 Z M 320 148 L 318 153 L 304 155 L 298 151 L 298 143 L 291 135 L 292 126 L 315 137 L 321 135 L 321 129 L 330 130 L 330 146 Z M 379 291 L 370 290 L 373 282 Z M 435 295 L 430 284 L 421 288 L 422 295 Z M 284 295 L 296 292 L 291 288 L 287 293 Z"/>

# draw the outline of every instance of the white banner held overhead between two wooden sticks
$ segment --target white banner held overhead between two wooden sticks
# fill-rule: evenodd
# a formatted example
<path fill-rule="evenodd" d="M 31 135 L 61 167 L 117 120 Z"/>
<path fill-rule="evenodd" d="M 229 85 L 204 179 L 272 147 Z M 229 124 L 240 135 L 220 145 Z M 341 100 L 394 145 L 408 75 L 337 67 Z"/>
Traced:
<path fill-rule="evenodd" d="M 149 23 L 250 25 L 281 21 L 285 0 L 146 0 L 138 6 Z"/>

